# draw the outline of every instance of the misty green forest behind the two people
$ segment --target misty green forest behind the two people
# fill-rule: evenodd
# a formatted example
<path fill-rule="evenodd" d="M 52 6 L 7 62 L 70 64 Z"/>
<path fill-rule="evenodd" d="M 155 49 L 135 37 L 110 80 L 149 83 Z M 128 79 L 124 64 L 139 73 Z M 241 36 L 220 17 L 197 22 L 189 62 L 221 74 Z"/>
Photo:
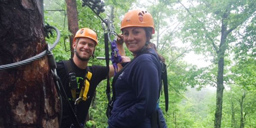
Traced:
<path fill-rule="evenodd" d="M 115 31 L 128 10 L 144 8 L 154 18 L 153 42 L 167 65 L 169 110 L 160 108 L 168 127 L 256 127 L 256 1 L 255 0 L 105 0 L 102 17 L 112 17 Z M 104 56 L 100 19 L 82 1 L 76 1 L 79 28 L 98 34 L 95 56 Z M 53 53 L 69 59 L 67 5 L 45 0 L 45 22 L 61 32 Z M 112 14 L 112 15 L 111 15 Z M 54 39 L 47 39 L 53 42 Z M 126 55 L 131 53 L 126 49 Z M 187 57 L 189 56 L 189 57 Z M 200 61 L 197 59 L 201 56 Z M 197 66 L 190 61 L 206 62 Z M 197 62 L 198 63 L 198 62 Z M 89 65 L 105 65 L 91 59 Z M 87 127 L 106 127 L 106 81 L 99 84 Z"/>

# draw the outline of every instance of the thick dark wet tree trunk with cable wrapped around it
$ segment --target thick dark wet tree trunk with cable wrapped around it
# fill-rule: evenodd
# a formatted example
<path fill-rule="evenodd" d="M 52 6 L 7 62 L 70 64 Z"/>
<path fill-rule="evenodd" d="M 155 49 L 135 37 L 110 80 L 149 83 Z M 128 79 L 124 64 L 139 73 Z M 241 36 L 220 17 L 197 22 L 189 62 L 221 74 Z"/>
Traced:
<path fill-rule="evenodd" d="M 46 50 L 35 0 L 0 0 L 0 21 L 0 65 Z M 58 127 L 59 100 L 47 57 L 0 71 L 0 102 L 0 127 Z"/>

